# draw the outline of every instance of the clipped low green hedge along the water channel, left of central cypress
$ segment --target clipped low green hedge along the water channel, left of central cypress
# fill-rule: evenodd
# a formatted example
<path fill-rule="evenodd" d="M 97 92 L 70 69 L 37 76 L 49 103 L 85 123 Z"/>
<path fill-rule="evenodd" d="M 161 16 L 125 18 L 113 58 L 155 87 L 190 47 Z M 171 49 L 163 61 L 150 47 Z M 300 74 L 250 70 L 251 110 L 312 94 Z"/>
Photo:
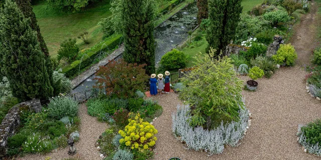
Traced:
<path fill-rule="evenodd" d="M 122 42 L 122 34 L 113 34 L 110 37 L 106 38 L 103 42 L 96 44 L 95 46 L 81 52 L 78 56 L 78 60 L 72 62 L 71 64 L 65 66 L 62 69 L 62 72 L 65 73 L 67 77 L 72 77 L 78 74 L 79 71 L 79 64 L 80 69 L 83 69 L 89 65 L 91 65 L 95 59 L 95 57 L 101 51 L 108 51 L 110 49 L 114 49 L 118 47 L 119 43 Z M 105 44 L 105 45 L 104 45 Z M 84 55 L 85 54 L 85 55 Z M 82 58 L 82 56 L 84 57 Z M 82 58 L 82 60 L 81 60 Z M 81 61 L 81 63 L 80 63 Z"/>

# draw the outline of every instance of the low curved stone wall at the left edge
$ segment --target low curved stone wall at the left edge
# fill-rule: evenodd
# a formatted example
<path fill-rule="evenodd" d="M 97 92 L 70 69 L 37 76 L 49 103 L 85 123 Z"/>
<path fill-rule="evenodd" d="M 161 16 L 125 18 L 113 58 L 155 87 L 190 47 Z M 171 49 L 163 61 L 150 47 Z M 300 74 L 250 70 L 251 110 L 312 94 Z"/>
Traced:
<path fill-rule="evenodd" d="M 39 99 L 25 101 L 13 106 L 2 120 L 0 125 L 0 157 L 7 153 L 8 138 L 13 136 L 20 126 L 20 108 L 28 107 L 31 111 L 40 112 L 42 107 Z"/>

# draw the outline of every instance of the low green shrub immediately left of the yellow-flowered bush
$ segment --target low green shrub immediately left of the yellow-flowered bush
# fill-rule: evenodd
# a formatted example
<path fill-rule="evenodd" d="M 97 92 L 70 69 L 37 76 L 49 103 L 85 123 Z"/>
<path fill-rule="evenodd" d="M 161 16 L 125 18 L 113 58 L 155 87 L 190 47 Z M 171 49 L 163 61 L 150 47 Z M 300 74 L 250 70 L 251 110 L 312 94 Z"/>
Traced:
<path fill-rule="evenodd" d="M 113 129 L 106 129 L 105 132 L 102 133 L 102 137 L 97 140 L 100 143 L 100 152 L 105 155 L 110 155 L 116 149 L 116 146 L 112 143 L 112 139 L 114 138 L 115 133 Z"/>

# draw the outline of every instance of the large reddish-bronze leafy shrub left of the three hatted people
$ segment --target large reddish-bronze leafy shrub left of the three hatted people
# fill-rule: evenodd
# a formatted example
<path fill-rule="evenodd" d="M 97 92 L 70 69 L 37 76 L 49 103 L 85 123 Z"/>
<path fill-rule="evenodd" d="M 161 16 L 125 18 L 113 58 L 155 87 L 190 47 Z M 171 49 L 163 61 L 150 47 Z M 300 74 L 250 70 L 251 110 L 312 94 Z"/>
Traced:
<path fill-rule="evenodd" d="M 117 97 L 135 97 L 137 90 L 143 90 L 148 75 L 145 65 L 131 64 L 123 59 L 112 60 L 106 66 L 100 66 L 96 72 L 96 88 L 105 89 L 107 95 Z"/>

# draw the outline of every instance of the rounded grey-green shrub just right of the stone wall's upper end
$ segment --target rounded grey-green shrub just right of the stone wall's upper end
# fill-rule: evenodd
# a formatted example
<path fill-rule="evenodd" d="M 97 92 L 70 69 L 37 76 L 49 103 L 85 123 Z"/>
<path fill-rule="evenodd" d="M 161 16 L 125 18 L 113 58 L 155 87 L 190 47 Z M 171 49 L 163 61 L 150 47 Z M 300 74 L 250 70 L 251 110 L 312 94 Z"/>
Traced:
<path fill-rule="evenodd" d="M 68 96 L 57 96 L 48 103 L 48 116 L 60 119 L 64 116 L 74 117 L 78 112 L 78 103 Z"/>

